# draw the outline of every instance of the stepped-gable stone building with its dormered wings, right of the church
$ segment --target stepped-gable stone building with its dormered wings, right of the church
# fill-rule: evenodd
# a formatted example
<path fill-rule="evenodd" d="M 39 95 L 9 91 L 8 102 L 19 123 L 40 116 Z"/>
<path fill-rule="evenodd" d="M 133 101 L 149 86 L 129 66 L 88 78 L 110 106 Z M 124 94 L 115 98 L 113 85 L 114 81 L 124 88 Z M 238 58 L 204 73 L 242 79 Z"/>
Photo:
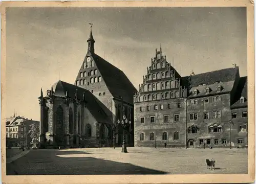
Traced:
<path fill-rule="evenodd" d="M 230 125 L 231 146 L 247 146 L 245 78 L 235 64 L 181 77 L 156 50 L 134 96 L 135 146 L 229 147 Z M 244 114 L 236 121 L 235 107 Z"/>

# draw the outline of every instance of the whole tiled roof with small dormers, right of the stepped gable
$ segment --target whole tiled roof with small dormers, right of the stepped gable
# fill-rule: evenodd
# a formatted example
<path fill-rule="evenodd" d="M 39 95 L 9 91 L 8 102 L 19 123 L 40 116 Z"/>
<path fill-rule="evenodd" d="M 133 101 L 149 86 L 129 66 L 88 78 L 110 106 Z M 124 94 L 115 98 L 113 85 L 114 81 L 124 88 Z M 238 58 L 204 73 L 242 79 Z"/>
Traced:
<path fill-rule="evenodd" d="M 197 96 L 206 95 L 207 87 L 210 88 L 209 95 L 217 94 L 218 86 L 222 87 L 221 93 L 229 92 L 232 90 L 234 80 L 236 79 L 236 75 L 238 72 L 238 67 L 232 67 L 198 75 L 191 75 L 190 86 L 188 86 L 189 76 L 186 76 L 181 78 L 181 85 L 190 87 L 190 96 L 193 96 L 192 92 L 195 89 L 198 90 Z"/>

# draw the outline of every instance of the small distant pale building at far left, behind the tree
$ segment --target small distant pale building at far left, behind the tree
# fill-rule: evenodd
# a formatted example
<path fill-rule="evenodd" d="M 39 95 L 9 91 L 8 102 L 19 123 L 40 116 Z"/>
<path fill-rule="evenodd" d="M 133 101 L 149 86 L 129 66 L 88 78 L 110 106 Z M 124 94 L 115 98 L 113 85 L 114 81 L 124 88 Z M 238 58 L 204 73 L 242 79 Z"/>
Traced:
<path fill-rule="evenodd" d="M 29 126 L 35 124 L 39 126 L 38 121 L 15 116 L 6 118 L 6 141 L 7 146 L 17 147 L 20 145 L 30 145 L 31 137 L 28 135 Z"/>

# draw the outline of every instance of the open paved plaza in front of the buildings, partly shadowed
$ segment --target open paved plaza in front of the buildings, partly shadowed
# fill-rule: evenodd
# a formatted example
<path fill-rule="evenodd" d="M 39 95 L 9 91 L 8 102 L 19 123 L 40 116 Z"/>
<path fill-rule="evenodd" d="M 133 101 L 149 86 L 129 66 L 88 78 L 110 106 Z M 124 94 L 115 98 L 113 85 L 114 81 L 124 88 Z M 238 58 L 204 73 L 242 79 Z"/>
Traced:
<path fill-rule="evenodd" d="M 246 174 L 247 149 L 83 148 L 30 150 L 7 164 L 7 175 Z M 216 160 L 207 170 L 206 158 Z"/>

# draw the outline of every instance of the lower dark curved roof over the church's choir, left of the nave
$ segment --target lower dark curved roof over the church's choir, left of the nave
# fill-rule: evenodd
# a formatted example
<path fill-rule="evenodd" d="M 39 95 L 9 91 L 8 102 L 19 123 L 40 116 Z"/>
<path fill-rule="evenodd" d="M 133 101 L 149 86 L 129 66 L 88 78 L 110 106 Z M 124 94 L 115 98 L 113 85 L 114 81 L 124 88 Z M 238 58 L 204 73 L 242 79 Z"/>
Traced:
<path fill-rule="evenodd" d="M 58 81 L 53 85 L 54 95 L 58 97 L 66 97 L 66 91 L 68 90 L 68 96 L 75 99 L 75 94 L 77 90 L 77 99 L 83 100 L 83 93 L 85 94 L 87 108 L 92 113 L 92 116 L 100 123 L 108 123 L 108 116 L 106 112 L 101 108 L 103 105 L 89 90 L 69 84 L 67 82 Z"/>

